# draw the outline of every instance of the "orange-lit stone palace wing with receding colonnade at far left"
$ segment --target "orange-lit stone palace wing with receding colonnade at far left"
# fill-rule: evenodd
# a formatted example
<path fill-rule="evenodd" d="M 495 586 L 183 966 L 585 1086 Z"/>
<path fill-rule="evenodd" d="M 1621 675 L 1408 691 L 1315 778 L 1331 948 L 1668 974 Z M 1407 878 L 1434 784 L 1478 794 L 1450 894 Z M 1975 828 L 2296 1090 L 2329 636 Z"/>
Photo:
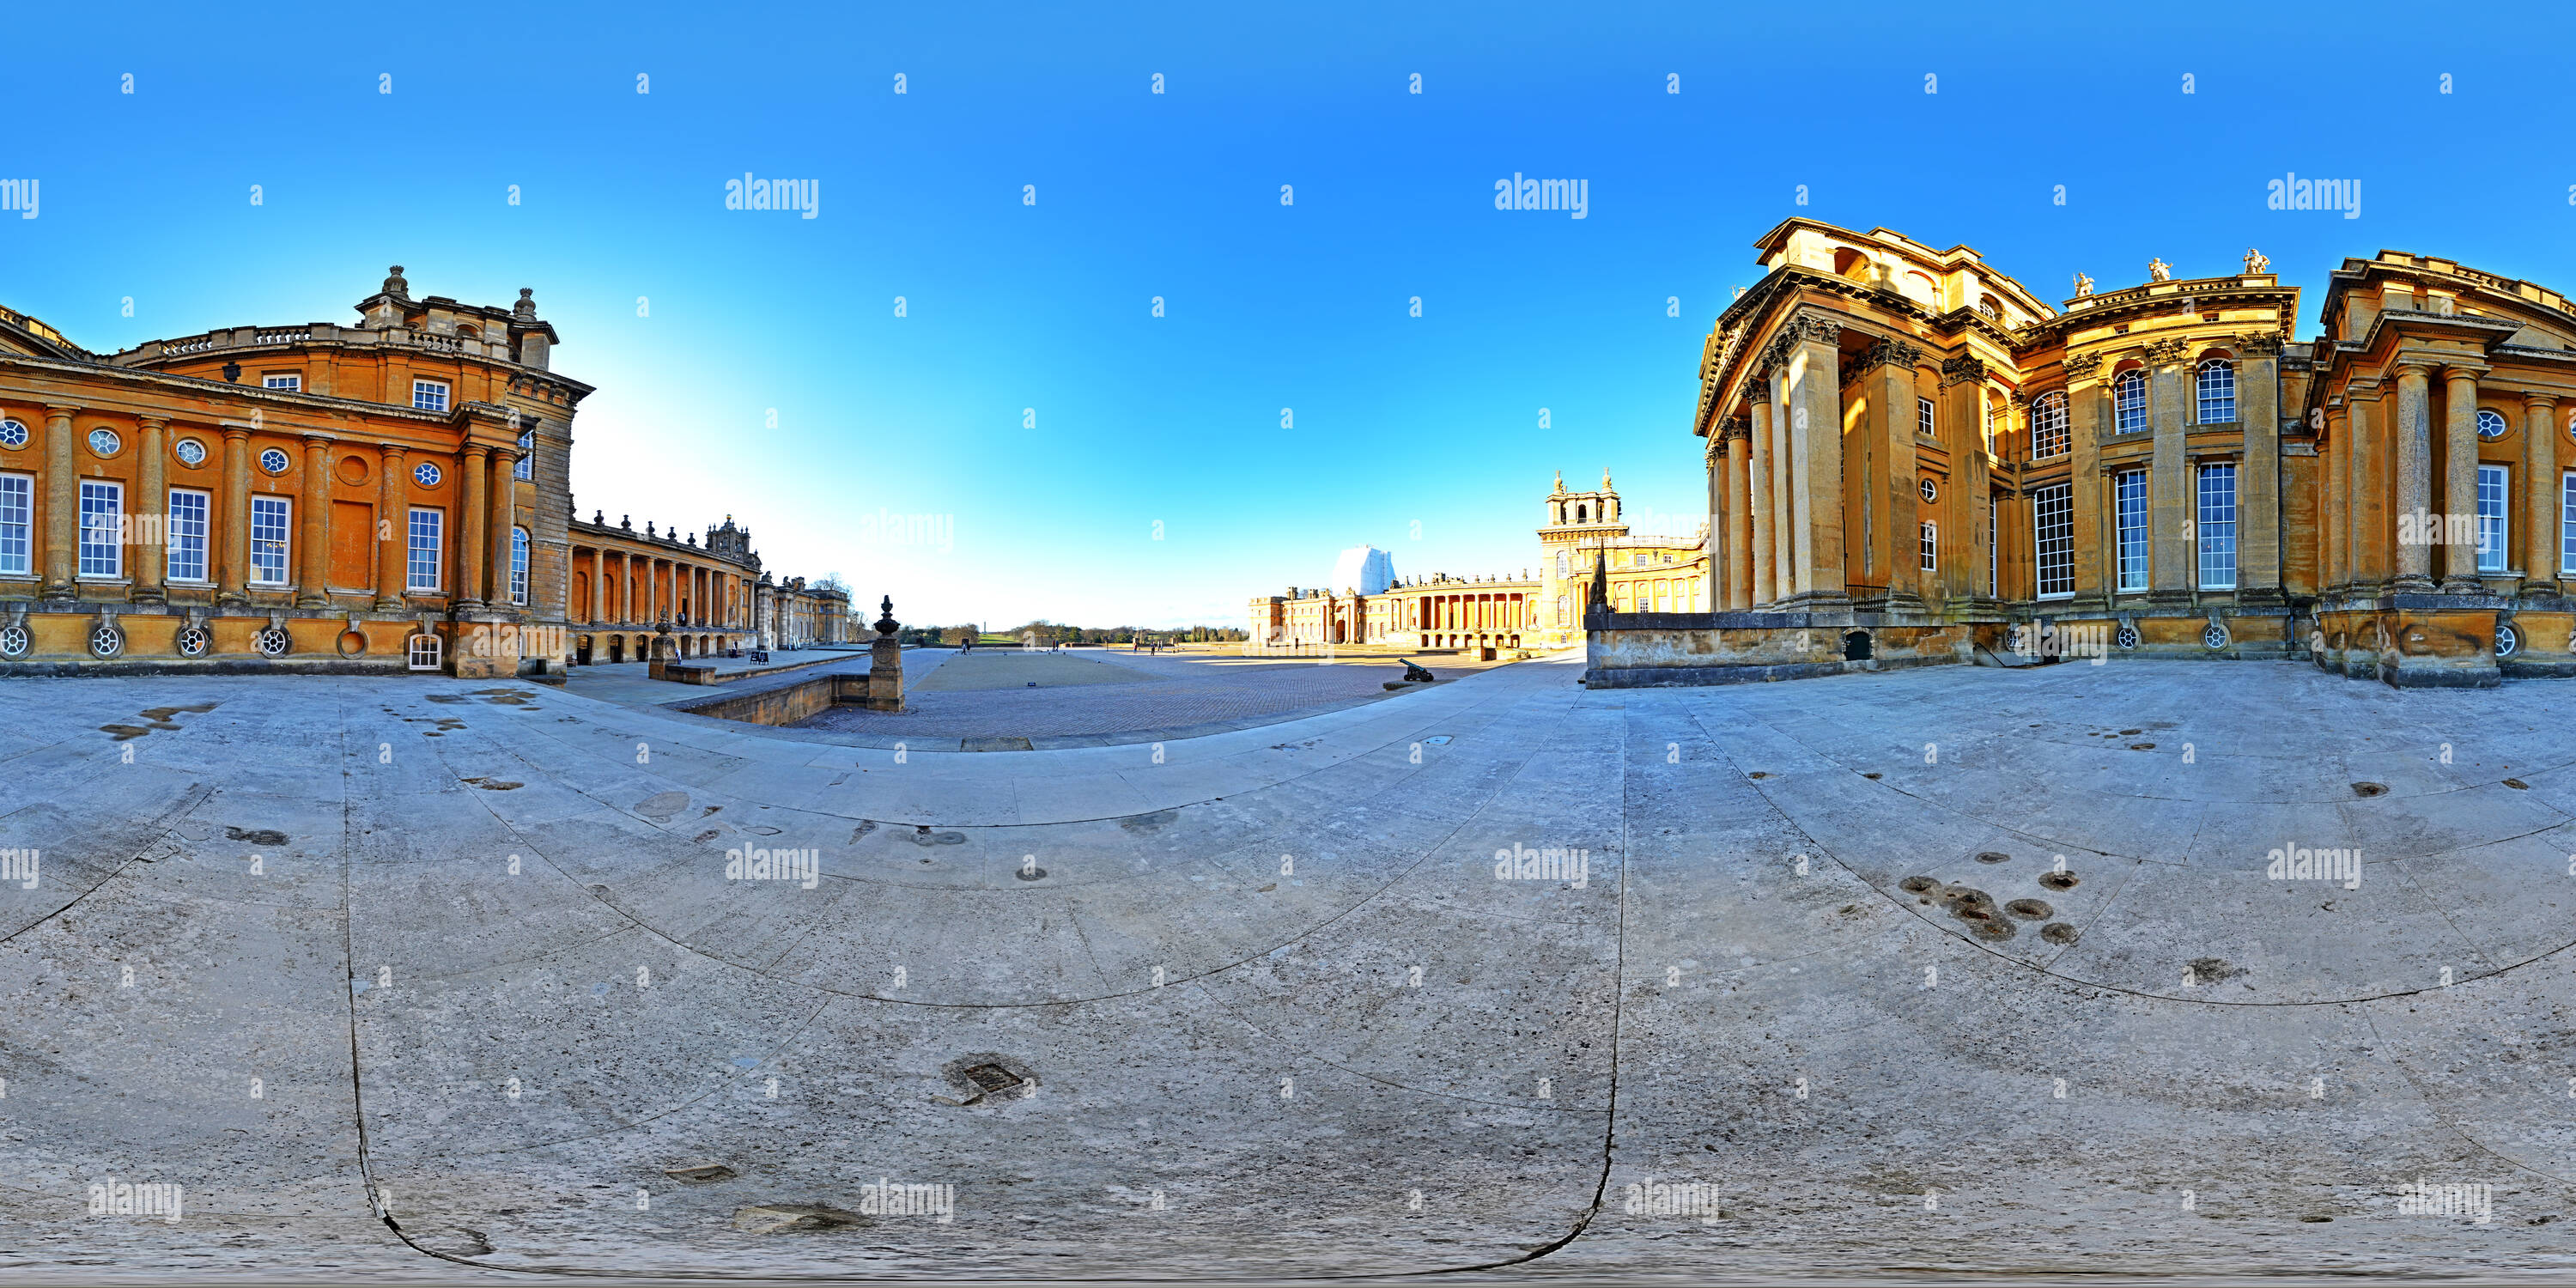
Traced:
<path fill-rule="evenodd" d="M 572 415 L 531 291 L 98 355 L 0 309 L 0 675 L 518 675 L 853 636 L 732 518 L 574 518 Z"/>

